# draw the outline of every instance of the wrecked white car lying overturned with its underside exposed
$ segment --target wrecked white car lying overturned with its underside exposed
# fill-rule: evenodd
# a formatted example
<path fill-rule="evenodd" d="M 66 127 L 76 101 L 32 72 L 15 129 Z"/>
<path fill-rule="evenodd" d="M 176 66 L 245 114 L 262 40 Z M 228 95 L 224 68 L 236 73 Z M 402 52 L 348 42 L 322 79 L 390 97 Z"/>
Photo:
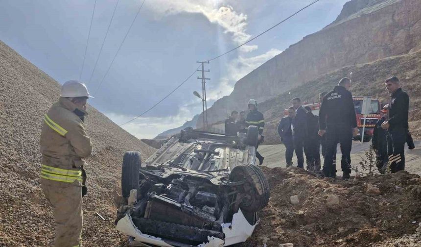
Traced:
<path fill-rule="evenodd" d="M 186 129 L 143 164 L 139 152 L 126 152 L 117 230 L 130 246 L 222 247 L 246 241 L 269 200 L 268 182 L 255 165 L 257 135 L 255 126 L 240 137 Z"/>

